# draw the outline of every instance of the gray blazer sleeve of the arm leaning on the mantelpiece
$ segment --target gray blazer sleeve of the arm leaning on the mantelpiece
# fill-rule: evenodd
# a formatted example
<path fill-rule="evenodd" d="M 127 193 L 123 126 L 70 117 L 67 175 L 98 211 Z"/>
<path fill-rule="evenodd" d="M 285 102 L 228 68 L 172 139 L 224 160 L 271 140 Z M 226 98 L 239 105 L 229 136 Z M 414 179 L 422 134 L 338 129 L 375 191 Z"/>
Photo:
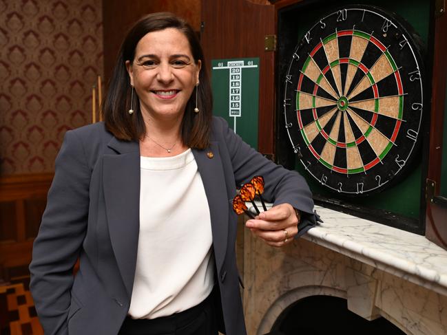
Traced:
<path fill-rule="evenodd" d="M 231 158 L 236 185 L 249 182 L 255 175 L 262 175 L 265 183 L 262 194 L 264 199 L 273 202 L 273 205 L 287 203 L 300 210 L 302 215 L 299 228 L 307 231 L 315 226 L 320 219 L 313 210 L 312 193 L 304 177 L 267 160 L 234 133 L 224 119 L 216 120 L 216 128 L 220 129 Z"/>

